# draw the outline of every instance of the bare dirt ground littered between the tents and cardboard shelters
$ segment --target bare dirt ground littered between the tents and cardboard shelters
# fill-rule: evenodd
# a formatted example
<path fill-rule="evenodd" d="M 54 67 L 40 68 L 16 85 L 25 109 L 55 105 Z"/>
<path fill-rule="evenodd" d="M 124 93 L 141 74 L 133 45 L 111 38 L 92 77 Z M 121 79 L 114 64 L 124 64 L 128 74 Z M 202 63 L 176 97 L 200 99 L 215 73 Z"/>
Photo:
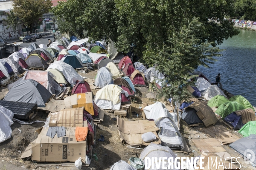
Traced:
<path fill-rule="evenodd" d="M 96 76 L 97 71 L 90 71 L 87 74 L 79 72 L 79 74 L 81 74 L 81 76 L 83 77 L 93 79 Z M 140 107 L 142 106 L 142 103 L 146 102 L 148 103 L 148 105 L 151 105 L 154 102 L 156 102 L 155 99 L 146 98 L 146 94 L 149 93 L 148 88 L 136 87 L 136 90 L 138 92 L 136 96 L 137 102 L 132 102 L 132 105 L 131 105 L 132 116 L 128 118 L 123 118 L 126 121 L 142 120 L 142 110 L 140 109 Z M 98 90 L 93 89 L 93 94 L 95 95 L 97 91 Z M 7 92 L 8 90 L 6 90 L 6 88 L 1 88 L 0 97 L 3 98 L 3 96 Z M 138 114 L 138 118 L 137 118 L 137 114 Z M 32 122 L 35 120 L 45 121 L 47 116 L 48 116 L 47 113 L 39 112 L 38 115 L 35 116 L 35 118 L 30 120 L 29 122 Z M 96 139 L 99 139 L 100 135 L 104 135 L 105 141 L 104 142 L 96 141 L 95 148 L 93 149 L 93 154 L 96 154 L 98 156 L 98 160 L 92 159 L 90 166 L 82 167 L 83 170 L 105 170 L 110 168 L 115 162 L 119 160 L 124 160 L 128 162 L 128 159 L 130 157 L 140 156 L 140 153 L 142 152 L 141 149 L 128 148 L 125 144 L 120 142 L 118 129 L 116 127 L 116 121 L 112 119 L 114 117 L 116 116 L 114 116 L 113 113 L 109 113 L 108 111 L 105 111 L 104 122 L 96 126 Z M 5 142 L 0 143 L 0 161 L 8 162 L 8 163 L 14 164 L 17 167 L 23 167 L 29 170 L 33 170 L 33 169 L 76 170 L 75 166 L 73 167 L 37 167 L 36 166 L 37 163 L 31 160 L 23 161 L 20 158 L 21 154 L 26 149 L 28 144 L 37 138 L 38 134 L 35 132 L 35 130 L 42 127 L 43 125 L 44 125 L 44 122 L 34 123 L 32 125 L 20 125 L 19 123 L 15 122 L 11 126 L 12 127 L 11 139 L 8 139 Z M 218 121 L 217 125 L 222 125 L 222 124 L 221 122 Z M 224 127 L 227 127 L 227 126 L 224 125 Z M 190 127 L 183 120 L 180 121 L 180 133 L 182 133 L 182 135 L 186 139 L 191 152 L 189 154 L 175 152 L 177 153 L 177 156 L 193 157 L 193 156 L 201 155 L 200 150 L 195 146 L 195 144 L 192 142 L 191 137 L 189 136 L 189 132 L 195 131 L 197 128 L 198 127 L 196 128 Z M 20 130 L 21 130 L 21 133 L 20 133 Z M 239 133 L 234 132 L 233 130 L 230 130 L 230 133 L 235 133 L 237 136 L 239 136 Z M 239 137 L 242 137 L 242 136 L 239 136 Z M 222 146 L 224 147 L 225 150 L 227 150 L 227 152 L 231 156 L 241 157 L 241 155 L 236 153 L 235 150 L 230 148 L 228 145 L 227 146 L 222 145 Z M 242 164 L 241 170 L 248 170 L 248 169 L 256 170 L 256 168 L 252 167 L 250 164 L 244 164 L 242 159 L 239 159 L 239 162 Z"/>

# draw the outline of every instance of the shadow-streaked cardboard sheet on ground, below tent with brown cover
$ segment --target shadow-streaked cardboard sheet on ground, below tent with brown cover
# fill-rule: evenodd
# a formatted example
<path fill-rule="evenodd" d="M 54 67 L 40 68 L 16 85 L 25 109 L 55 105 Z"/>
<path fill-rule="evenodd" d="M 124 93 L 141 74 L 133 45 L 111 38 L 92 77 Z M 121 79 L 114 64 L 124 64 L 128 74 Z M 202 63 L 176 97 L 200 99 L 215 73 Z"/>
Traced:
<path fill-rule="evenodd" d="M 224 126 L 215 125 L 211 127 L 203 127 L 199 129 L 203 133 L 207 134 L 209 137 L 218 139 L 222 144 L 230 144 L 238 139 L 238 136 L 230 133 Z"/>

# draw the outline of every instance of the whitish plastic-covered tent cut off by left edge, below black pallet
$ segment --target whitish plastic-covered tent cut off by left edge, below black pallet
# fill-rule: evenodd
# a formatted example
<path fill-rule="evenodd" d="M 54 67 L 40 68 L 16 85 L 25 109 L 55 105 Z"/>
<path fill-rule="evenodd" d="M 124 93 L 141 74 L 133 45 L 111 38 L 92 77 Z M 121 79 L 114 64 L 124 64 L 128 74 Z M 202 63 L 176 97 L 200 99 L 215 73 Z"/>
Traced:
<path fill-rule="evenodd" d="M 11 125 L 14 113 L 3 106 L 0 106 L 0 143 L 10 139 L 12 136 Z"/>

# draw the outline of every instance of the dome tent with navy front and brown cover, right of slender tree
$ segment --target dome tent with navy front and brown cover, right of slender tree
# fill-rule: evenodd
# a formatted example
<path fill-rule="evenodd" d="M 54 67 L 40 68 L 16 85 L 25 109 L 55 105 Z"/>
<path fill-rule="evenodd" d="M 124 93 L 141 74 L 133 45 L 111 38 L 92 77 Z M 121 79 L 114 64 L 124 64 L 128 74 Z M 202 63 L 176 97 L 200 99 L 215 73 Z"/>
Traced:
<path fill-rule="evenodd" d="M 204 123 L 206 127 L 215 125 L 218 121 L 212 108 L 210 108 L 206 102 L 201 100 L 198 100 L 185 108 L 181 118 L 189 125 Z"/>

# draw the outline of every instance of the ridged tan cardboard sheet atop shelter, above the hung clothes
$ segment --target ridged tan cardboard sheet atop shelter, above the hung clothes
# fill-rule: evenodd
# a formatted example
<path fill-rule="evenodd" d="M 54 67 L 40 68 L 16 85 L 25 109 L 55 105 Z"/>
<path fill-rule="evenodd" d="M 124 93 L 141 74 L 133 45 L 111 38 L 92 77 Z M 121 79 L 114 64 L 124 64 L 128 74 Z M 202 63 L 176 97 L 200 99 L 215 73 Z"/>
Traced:
<path fill-rule="evenodd" d="M 84 108 L 63 109 L 49 113 L 49 116 L 51 116 L 49 126 L 82 127 Z"/>

